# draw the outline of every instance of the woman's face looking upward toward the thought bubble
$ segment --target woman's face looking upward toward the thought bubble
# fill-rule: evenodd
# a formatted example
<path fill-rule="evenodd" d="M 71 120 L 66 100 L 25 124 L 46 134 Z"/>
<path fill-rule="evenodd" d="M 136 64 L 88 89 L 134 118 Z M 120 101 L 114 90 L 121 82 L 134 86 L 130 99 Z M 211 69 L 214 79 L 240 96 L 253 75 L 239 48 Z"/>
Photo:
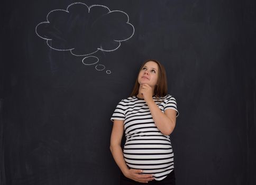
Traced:
<path fill-rule="evenodd" d="M 158 64 L 153 61 L 149 61 L 144 64 L 139 72 L 138 82 L 140 85 L 148 84 L 152 88 L 157 85 L 158 81 Z"/>

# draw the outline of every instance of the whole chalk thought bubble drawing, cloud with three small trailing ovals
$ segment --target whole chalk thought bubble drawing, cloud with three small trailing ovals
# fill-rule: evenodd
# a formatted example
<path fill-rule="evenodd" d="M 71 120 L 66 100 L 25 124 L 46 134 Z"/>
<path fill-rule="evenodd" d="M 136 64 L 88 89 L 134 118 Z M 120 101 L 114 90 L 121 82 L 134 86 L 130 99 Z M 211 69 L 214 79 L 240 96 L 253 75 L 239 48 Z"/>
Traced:
<path fill-rule="evenodd" d="M 36 25 L 35 32 L 47 41 L 51 49 L 70 51 L 74 56 L 87 56 L 83 63 L 91 65 L 97 63 L 98 58 L 89 58 L 89 55 L 99 50 L 117 50 L 121 42 L 133 36 L 134 26 L 123 11 L 111 11 L 103 5 L 72 3 L 67 10 L 50 11 L 47 21 Z M 98 64 L 96 70 L 103 70 L 104 65 L 99 65 L 102 64 Z"/>

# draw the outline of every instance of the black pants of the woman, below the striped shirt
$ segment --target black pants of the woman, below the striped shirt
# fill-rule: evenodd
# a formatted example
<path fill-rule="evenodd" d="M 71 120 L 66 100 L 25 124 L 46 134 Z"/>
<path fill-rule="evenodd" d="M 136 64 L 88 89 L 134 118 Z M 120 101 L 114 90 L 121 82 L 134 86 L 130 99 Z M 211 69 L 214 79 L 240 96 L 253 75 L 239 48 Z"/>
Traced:
<path fill-rule="evenodd" d="M 142 182 L 136 182 L 132 179 L 129 179 L 123 175 L 121 172 L 121 177 L 120 177 L 120 185 L 145 185 L 145 184 L 150 184 L 150 185 L 175 185 L 175 173 L 174 170 L 172 170 L 166 178 L 157 181 L 157 180 L 152 180 L 149 181 L 148 183 L 142 183 Z"/>

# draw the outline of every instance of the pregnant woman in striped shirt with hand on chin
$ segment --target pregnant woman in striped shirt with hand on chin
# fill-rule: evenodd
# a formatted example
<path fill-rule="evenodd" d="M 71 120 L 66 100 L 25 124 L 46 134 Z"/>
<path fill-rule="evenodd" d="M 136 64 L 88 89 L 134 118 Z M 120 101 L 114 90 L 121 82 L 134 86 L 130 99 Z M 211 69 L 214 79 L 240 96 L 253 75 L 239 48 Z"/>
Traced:
<path fill-rule="evenodd" d="M 122 171 L 120 184 L 175 184 L 169 135 L 178 115 L 176 99 L 167 94 L 164 67 L 145 61 L 131 96 L 118 103 L 111 117 L 110 149 Z"/>

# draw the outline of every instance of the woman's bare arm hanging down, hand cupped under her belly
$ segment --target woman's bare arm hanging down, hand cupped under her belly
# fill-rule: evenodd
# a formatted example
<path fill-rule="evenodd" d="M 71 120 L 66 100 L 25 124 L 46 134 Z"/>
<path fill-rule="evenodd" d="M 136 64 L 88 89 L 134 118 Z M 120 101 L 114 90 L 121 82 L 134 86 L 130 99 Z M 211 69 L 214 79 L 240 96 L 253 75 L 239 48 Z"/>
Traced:
<path fill-rule="evenodd" d="M 124 161 L 123 151 L 121 147 L 123 132 L 124 132 L 124 121 L 114 119 L 114 124 L 112 128 L 112 133 L 111 133 L 111 140 L 110 140 L 110 150 L 116 164 L 118 165 L 122 173 L 127 178 L 130 178 L 138 182 L 144 182 L 144 183 L 152 180 L 153 178 L 151 174 L 147 174 L 147 175 L 140 174 L 142 170 L 129 169 L 127 167 Z"/>

